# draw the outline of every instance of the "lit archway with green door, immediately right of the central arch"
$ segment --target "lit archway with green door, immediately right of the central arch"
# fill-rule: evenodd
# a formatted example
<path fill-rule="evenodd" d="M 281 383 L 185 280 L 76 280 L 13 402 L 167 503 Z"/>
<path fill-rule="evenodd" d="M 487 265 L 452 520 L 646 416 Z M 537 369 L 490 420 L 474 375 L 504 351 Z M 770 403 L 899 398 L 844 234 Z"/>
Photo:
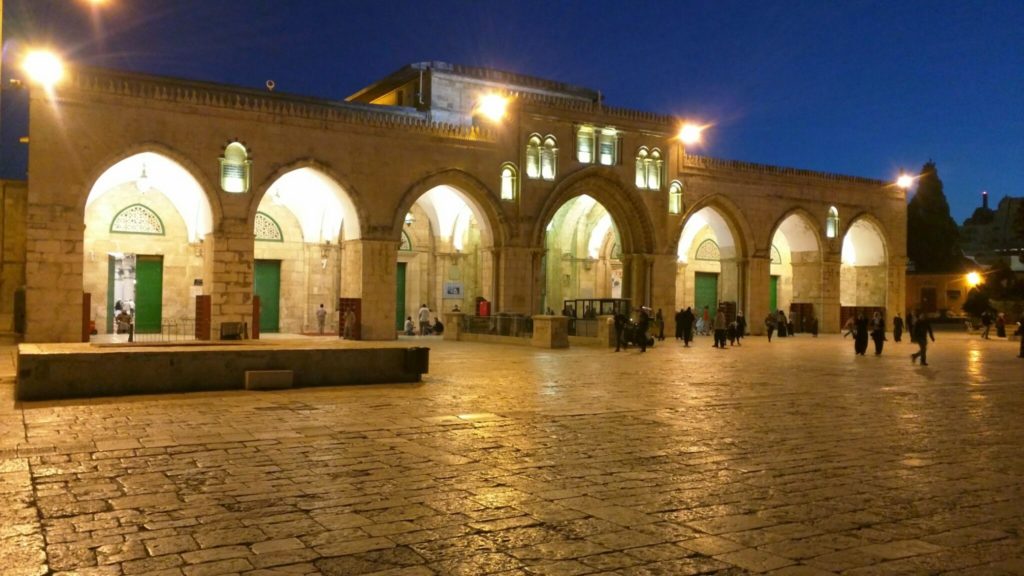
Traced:
<path fill-rule="evenodd" d="M 715 207 L 706 206 L 686 218 L 677 245 L 676 308 L 692 306 L 698 319 L 714 318 L 724 304 L 731 321 L 742 298 L 742 271 L 736 234 Z"/>

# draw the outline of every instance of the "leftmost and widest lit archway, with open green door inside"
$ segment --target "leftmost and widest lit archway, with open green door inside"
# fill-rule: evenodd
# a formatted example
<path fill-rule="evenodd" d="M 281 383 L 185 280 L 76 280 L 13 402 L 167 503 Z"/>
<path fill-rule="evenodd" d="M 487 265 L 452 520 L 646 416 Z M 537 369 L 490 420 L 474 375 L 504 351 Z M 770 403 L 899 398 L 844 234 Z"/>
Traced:
<path fill-rule="evenodd" d="M 86 199 L 83 250 L 96 333 L 134 324 L 139 334 L 187 334 L 212 221 L 200 183 L 166 155 L 138 153 L 103 171 Z"/>

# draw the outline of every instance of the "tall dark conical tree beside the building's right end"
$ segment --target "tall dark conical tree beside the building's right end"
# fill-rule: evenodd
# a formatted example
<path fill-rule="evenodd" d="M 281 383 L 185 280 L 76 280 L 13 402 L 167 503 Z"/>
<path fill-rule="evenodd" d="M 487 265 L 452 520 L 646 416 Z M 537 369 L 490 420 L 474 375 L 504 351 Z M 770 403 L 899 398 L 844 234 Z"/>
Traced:
<path fill-rule="evenodd" d="M 956 222 L 949 215 L 949 203 L 935 163 L 921 168 L 918 192 L 906 208 L 906 254 L 919 273 L 962 272 L 963 254 Z"/>

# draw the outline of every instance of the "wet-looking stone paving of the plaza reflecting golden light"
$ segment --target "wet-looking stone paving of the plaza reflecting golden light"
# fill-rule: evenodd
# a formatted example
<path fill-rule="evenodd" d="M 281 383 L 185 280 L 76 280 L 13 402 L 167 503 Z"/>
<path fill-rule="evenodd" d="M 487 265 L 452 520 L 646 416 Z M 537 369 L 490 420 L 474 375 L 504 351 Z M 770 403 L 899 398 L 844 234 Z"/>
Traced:
<path fill-rule="evenodd" d="M 0 574 L 1024 574 L 1024 360 L 936 336 L 24 405 L 5 348 Z"/>

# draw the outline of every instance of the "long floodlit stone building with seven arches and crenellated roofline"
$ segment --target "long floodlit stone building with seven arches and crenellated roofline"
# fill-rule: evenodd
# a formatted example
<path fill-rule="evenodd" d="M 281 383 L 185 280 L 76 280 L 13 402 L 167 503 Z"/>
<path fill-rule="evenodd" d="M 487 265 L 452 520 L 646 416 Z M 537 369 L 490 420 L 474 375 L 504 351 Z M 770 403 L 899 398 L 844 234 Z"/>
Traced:
<path fill-rule="evenodd" d="M 509 97 L 496 122 L 477 114 L 494 93 Z M 679 128 L 443 63 L 344 101 L 78 68 L 31 95 L 24 280 L 5 248 L 0 320 L 19 280 L 27 341 L 110 331 L 118 300 L 159 329 L 198 295 L 214 327 L 258 317 L 264 332 L 310 331 L 319 303 L 358 298 L 367 339 L 395 338 L 421 304 L 480 299 L 523 315 L 731 302 L 755 332 L 770 310 L 827 332 L 904 301 L 899 188 L 694 156 Z"/>

